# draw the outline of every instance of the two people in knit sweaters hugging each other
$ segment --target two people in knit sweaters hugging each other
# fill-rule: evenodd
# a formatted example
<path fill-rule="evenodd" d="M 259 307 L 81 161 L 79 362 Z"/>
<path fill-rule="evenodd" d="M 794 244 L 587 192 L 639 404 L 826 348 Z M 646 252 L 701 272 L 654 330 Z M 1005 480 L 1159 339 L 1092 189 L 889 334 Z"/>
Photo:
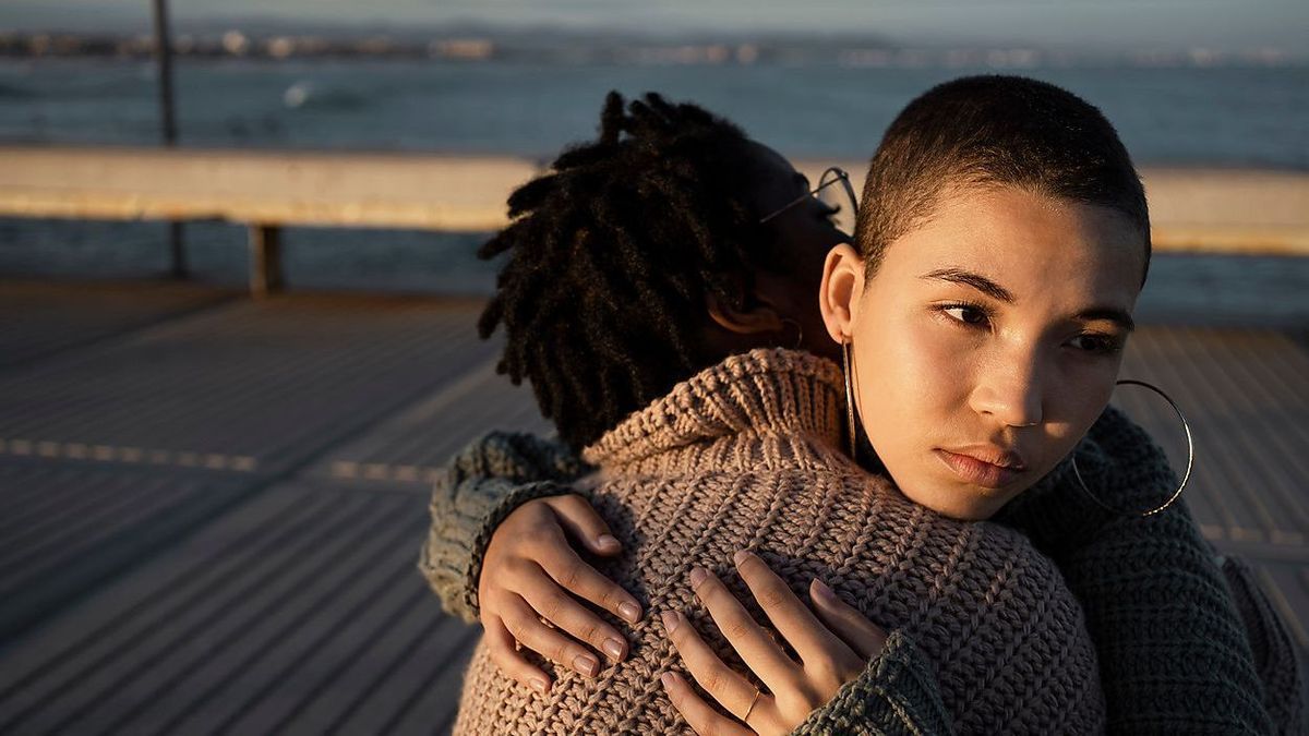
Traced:
<path fill-rule="evenodd" d="M 433 491 L 420 568 L 486 630 L 456 732 L 1300 728 L 1276 616 L 1107 405 L 1151 245 L 1100 111 L 954 80 L 852 237 L 816 191 L 856 206 L 610 94 L 511 196 L 479 329 L 558 439 L 492 433 Z"/>

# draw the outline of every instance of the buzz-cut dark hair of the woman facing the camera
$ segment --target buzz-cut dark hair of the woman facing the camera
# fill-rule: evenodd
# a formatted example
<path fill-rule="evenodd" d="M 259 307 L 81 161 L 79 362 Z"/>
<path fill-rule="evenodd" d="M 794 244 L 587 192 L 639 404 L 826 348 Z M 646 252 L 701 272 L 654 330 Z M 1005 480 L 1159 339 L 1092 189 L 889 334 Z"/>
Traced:
<path fill-rule="evenodd" d="M 1114 126 L 1052 84 L 994 75 L 927 90 L 886 130 L 855 229 L 868 275 L 877 272 L 888 245 L 931 217 L 944 190 L 996 185 L 1127 216 L 1144 240 L 1148 272 L 1145 190 Z"/>

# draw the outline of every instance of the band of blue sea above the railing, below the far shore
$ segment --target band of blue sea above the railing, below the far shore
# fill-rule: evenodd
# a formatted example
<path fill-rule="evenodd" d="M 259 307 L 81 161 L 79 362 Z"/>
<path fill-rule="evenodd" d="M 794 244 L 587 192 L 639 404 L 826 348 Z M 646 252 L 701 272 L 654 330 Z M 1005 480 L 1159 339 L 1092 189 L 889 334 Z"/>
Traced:
<path fill-rule="evenodd" d="M 791 156 L 860 157 L 914 96 L 988 71 L 182 59 L 177 107 L 191 145 L 548 156 L 594 131 L 610 89 L 658 90 L 698 101 Z M 1022 73 L 1100 106 L 1139 164 L 1309 169 L 1309 67 Z M 288 103 L 292 88 L 298 106 Z M 148 144 L 157 131 L 148 63 L 0 62 L 0 140 Z"/>

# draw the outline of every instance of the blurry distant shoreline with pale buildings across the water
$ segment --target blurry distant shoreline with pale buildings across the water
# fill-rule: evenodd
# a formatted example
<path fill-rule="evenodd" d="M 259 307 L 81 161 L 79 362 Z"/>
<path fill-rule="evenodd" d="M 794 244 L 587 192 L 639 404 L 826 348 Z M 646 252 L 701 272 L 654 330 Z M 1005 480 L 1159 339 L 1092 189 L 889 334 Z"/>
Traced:
<path fill-rule="evenodd" d="M 1242 50 L 1049 48 L 1033 43 L 914 45 L 863 34 L 848 37 L 761 35 L 698 38 L 632 34 L 497 34 L 459 30 L 410 33 L 177 33 L 173 54 L 181 59 L 255 60 L 439 60 L 459 63 L 529 62 L 546 64 L 754 65 L 836 64 L 867 68 L 992 68 L 1022 71 L 1081 65 L 1128 68 L 1299 68 L 1309 65 L 1301 48 Z M 151 60 L 154 39 L 147 33 L 0 31 L 0 59 Z"/>

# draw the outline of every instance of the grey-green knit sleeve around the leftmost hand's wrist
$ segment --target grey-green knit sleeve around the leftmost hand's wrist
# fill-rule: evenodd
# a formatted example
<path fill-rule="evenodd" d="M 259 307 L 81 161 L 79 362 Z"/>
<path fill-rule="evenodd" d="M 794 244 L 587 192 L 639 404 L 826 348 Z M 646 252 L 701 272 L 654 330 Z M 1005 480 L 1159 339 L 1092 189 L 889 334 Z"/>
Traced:
<path fill-rule="evenodd" d="M 564 444 L 520 432 L 474 440 L 432 488 L 431 525 L 418 567 L 450 616 L 478 619 L 478 579 L 491 534 L 524 503 L 575 492 L 586 466 Z"/>

